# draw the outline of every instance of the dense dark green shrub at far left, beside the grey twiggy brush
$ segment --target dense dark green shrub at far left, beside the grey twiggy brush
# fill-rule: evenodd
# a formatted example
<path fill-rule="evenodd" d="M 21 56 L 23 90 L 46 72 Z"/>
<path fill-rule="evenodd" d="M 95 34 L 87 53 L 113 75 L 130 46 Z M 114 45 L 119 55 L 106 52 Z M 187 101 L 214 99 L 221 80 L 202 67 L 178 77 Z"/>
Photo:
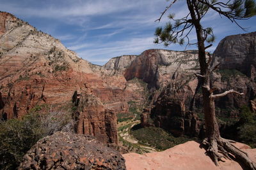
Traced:
<path fill-rule="evenodd" d="M 0 169 L 15 169 L 23 155 L 43 137 L 38 115 L 0 123 Z"/>

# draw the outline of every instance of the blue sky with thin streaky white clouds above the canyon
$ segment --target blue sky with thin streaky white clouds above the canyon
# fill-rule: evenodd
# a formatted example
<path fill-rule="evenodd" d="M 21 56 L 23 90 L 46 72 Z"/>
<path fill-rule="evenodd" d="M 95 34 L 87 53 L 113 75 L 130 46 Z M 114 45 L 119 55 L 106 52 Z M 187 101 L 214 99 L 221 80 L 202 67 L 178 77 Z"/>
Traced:
<path fill-rule="evenodd" d="M 151 48 L 185 50 L 185 46 L 154 44 L 156 27 L 168 22 L 168 14 L 179 18 L 188 12 L 186 1 L 180 0 L 161 22 L 160 17 L 170 1 L 166 0 L 0 0 L 0 11 L 12 13 L 36 29 L 60 39 L 69 50 L 93 64 L 103 65 L 112 57 L 140 55 Z M 248 32 L 256 31 L 256 17 L 239 21 Z M 216 41 L 232 34 L 246 33 L 227 18 L 209 11 L 202 20 L 204 27 L 212 27 Z M 195 32 L 190 36 L 196 41 Z M 196 49 L 189 46 L 186 50 Z"/>

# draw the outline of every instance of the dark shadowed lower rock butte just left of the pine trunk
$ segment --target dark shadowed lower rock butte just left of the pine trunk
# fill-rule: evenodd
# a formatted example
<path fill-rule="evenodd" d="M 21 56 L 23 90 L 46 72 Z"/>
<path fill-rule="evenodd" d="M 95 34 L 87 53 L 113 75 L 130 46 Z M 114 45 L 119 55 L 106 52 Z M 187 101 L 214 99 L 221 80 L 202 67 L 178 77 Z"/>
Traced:
<path fill-rule="evenodd" d="M 168 86 L 159 95 L 154 107 L 141 115 L 141 125 L 155 126 L 170 131 L 174 136 L 186 134 L 188 136 L 200 136 L 202 122 L 197 117 L 196 113 L 189 111 L 185 103 L 188 98 L 184 95 L 186 92 L 175 91 Z M 190 96 L 191 97 L 191 96 Z M 148 124 L 148 117 L 154 124 Z"/>

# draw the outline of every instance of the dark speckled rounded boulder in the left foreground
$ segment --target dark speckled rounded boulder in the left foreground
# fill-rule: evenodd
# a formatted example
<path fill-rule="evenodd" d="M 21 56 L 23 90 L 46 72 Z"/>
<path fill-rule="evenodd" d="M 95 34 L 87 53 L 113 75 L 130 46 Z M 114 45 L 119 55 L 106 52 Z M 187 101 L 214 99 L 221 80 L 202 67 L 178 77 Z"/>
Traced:
<path fill-rule="evenodd" d="M 125 169 L 125 160 L 92 136 L 56 132 L 40 139 L 19 169 Z"/>

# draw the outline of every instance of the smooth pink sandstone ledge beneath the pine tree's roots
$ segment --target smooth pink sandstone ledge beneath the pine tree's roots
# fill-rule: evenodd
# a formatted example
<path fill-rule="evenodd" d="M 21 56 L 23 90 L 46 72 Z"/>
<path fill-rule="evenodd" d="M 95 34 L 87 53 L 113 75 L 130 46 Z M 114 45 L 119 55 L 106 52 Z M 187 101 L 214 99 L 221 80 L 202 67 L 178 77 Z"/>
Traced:
<path fill-rule="evenodd" d="M 249 146 L 236 143 L 237 148 L 248 153 L 249 157 L 256 162 L 256 149 Z M 163 152 L 145 153 L 127 153 L 123 155 L 125 165 L 129 170 L 136 169 L 173 169 L 173 170 L 242 170 L 243 168 L 234 160 L 220 161 L 220 166 L 216 166 L 211 158 L 205 154 L 205 149 L 200 148 L 200 144 L 195 141 L 188 141 L 164 150 Z"/>

